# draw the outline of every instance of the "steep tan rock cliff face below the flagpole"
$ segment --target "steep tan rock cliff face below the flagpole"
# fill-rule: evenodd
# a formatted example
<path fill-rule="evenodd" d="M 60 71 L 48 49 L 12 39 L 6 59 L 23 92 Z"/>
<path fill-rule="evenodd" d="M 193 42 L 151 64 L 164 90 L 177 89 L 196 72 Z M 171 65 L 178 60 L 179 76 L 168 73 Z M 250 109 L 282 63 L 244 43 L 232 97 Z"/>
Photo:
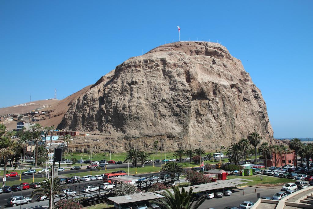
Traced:
<path fill-rule="evenodd" d="M 176 42 L 131 57 L 72 103 L 60 127 L 219 147 L 273 138 L 260 90 L 220 44 Z M 214 144 L 214 146 L 213 146 Z M 126 149 L 126 148 L 125 148 Z"/>

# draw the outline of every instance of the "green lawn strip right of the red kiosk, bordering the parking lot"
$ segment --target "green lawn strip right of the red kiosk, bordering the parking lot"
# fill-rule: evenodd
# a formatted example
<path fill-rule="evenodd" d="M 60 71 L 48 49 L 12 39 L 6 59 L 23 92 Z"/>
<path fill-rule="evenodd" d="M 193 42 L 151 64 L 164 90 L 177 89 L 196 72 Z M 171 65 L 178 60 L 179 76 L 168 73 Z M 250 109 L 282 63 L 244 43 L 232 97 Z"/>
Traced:
<path fill-rule="evenodd" d="M 239 186 L 247 185 L 247 186 L 253 186 L 253 185 L 259 185 L 259 184 L 271 184 L 273 186 L 275 185 L 280 185 L 280 184 L 285 184 L 285 183 L 290 183 L 290 182 L 295 182 L 293 179 L 286 179 L 286 178 L 277 178 L 277 177 L 272 177 L 272 176 L 264 176 L 263 180 L 260 180 L 261 175 L 253 175 L 253 176 L 228 176 L 227 179 L 235 179 L 235 178 L 241 178 L 241 179 L 249 179 L 253 181 L 247 181 L 247 184 L 241 184 Z"/>

